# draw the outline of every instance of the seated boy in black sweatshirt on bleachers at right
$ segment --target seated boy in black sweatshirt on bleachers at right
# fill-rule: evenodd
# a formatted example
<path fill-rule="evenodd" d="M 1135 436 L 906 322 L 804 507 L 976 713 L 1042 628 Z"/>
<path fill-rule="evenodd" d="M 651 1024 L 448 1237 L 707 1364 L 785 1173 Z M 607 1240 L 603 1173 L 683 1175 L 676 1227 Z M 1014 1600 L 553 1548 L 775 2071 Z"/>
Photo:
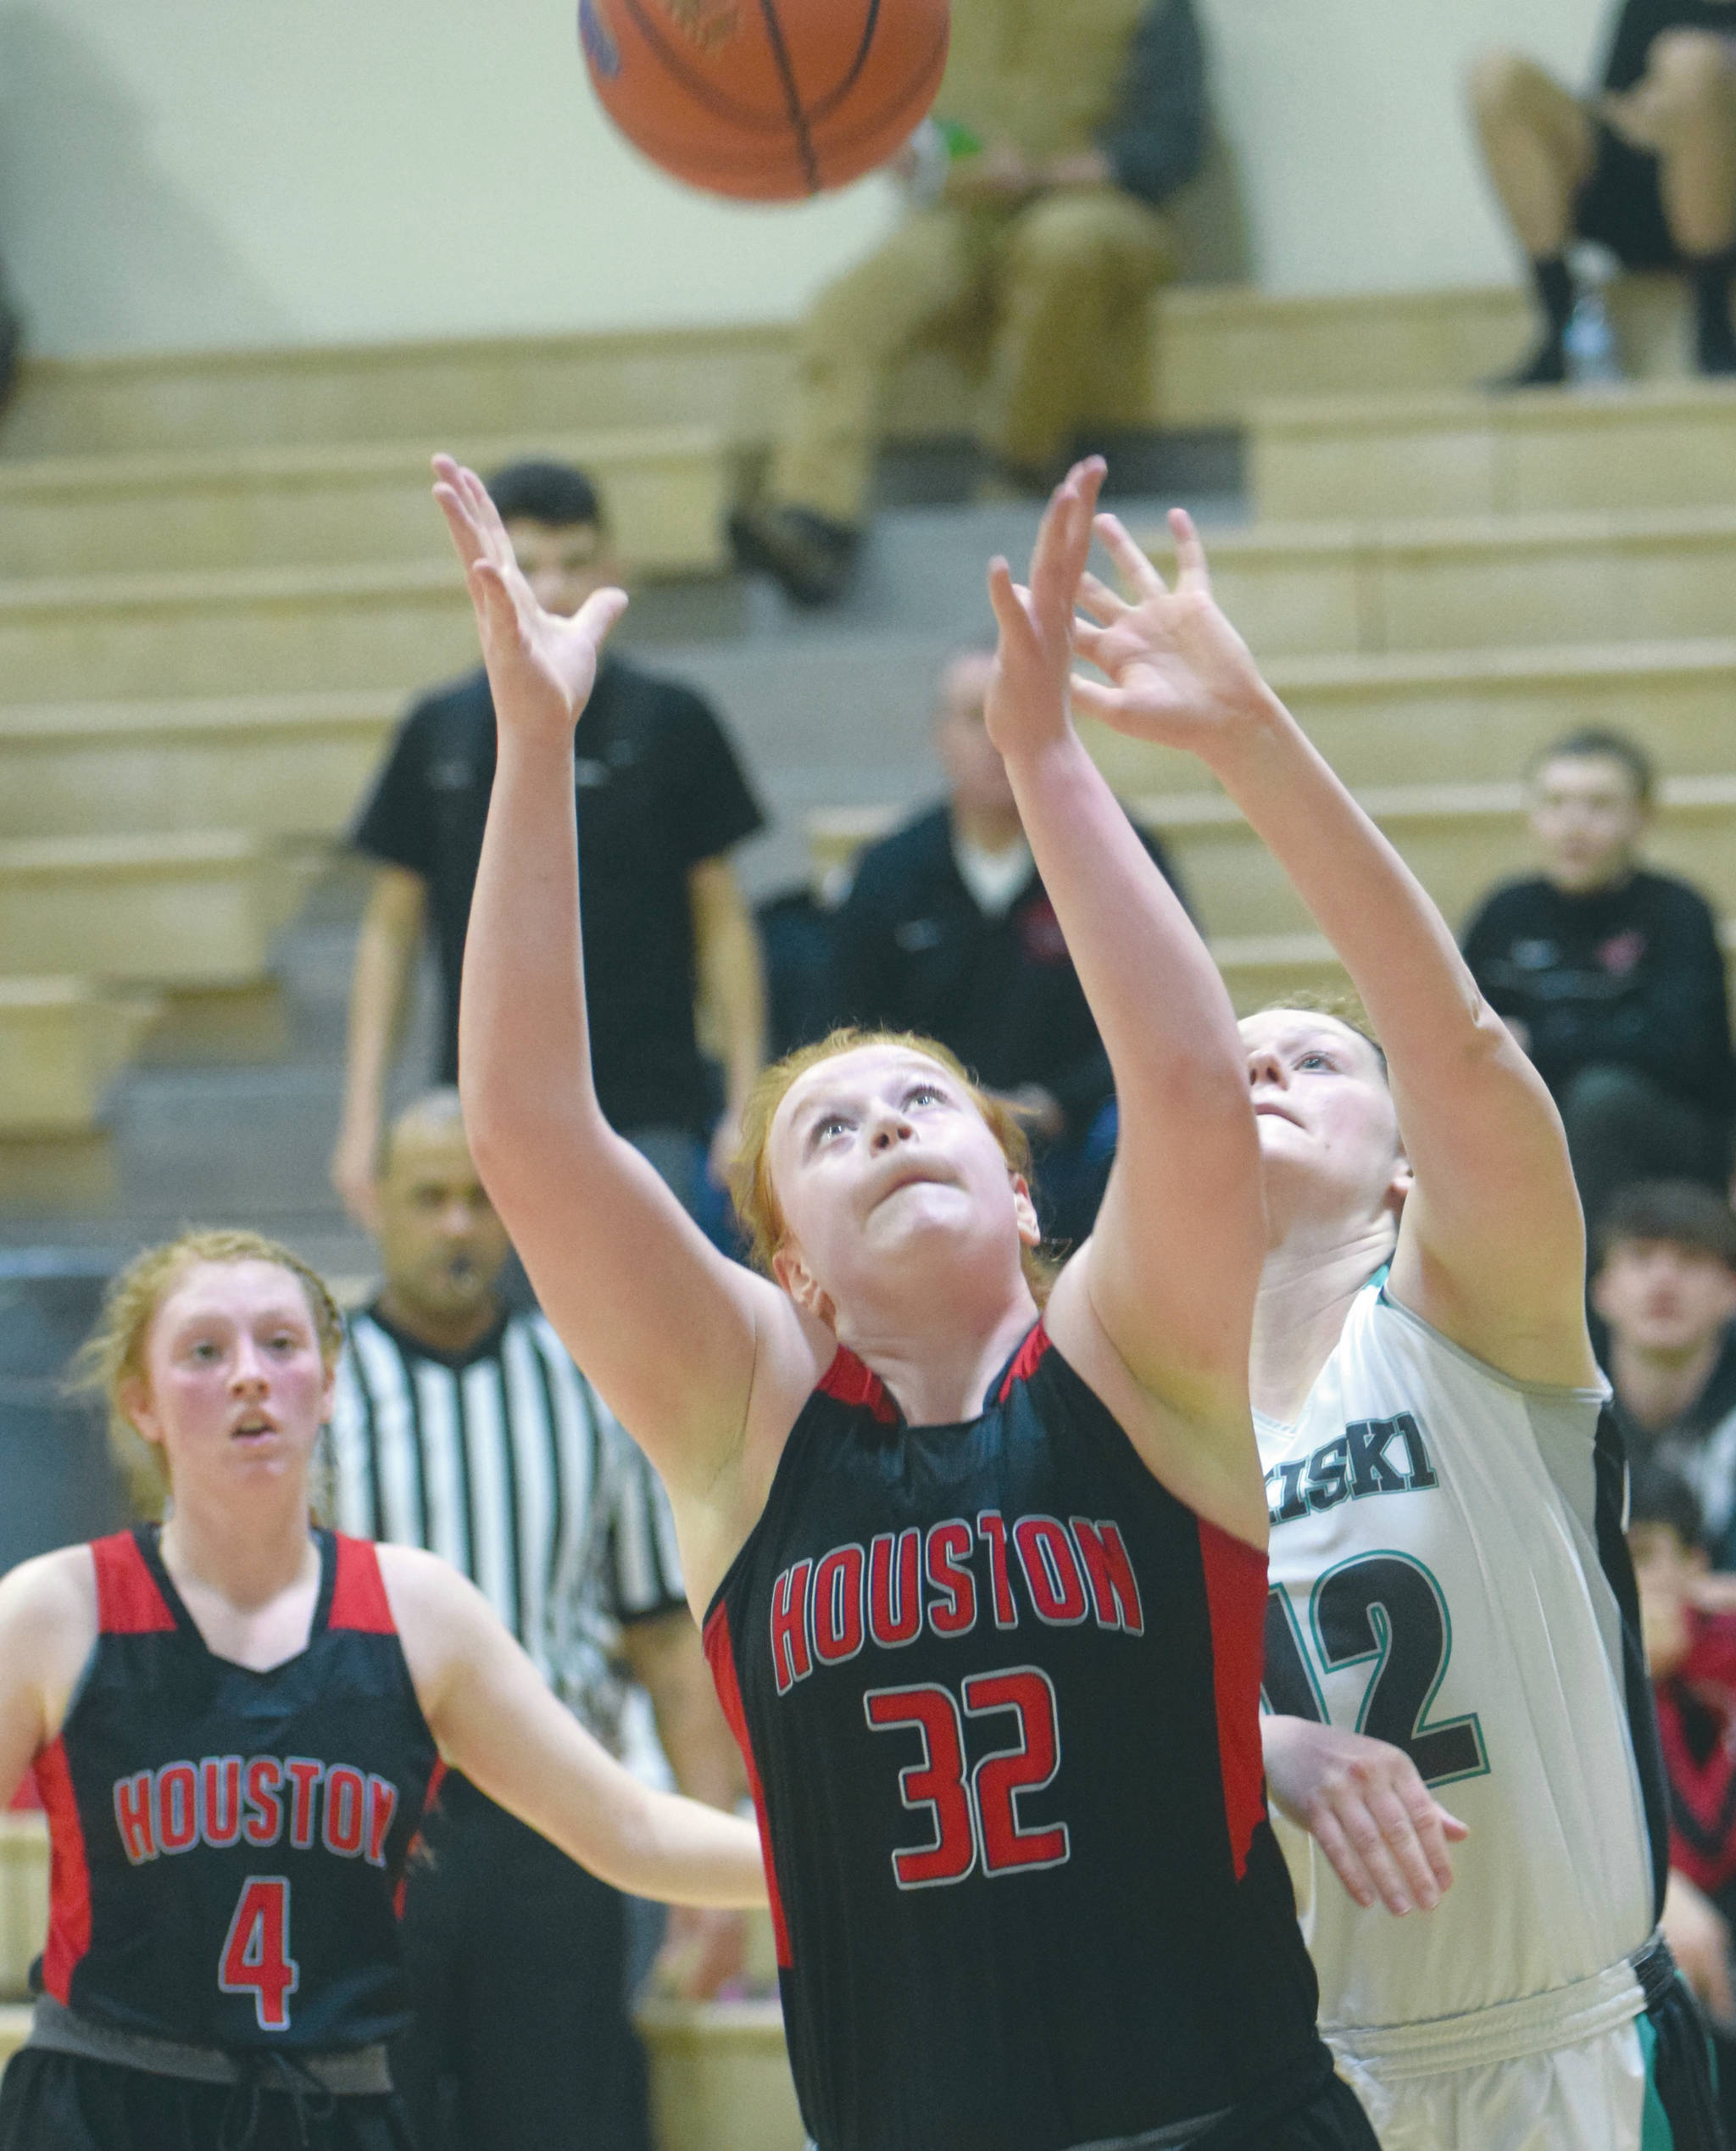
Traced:
<path fill-rule="evenodd" d="M 1732 17 L 1736 22 L 1736 17 Z M 1652 764 L 1575 731 L 1532 768 L 1542 873 L 1502 884 L 1465 959 L 1555 1095 L 1585 1220 L 1641 1179 L 1730 1183 L 1736 1063 L 1706 899 L 1639 865 Z"/>

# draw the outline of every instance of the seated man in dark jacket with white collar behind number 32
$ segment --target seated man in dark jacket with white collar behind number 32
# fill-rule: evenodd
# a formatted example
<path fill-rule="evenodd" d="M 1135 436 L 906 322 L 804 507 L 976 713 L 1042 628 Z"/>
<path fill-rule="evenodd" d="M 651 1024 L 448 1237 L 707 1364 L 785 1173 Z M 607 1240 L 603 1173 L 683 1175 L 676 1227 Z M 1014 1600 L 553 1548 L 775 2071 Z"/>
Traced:
<path fill-rule="evenodd" d="M 869 845 L 833 927 L 835 1022 L 940 1039 L 1024 1121 L 1043 1230 L 1091 1230 L 1114 1157 L 1110 1060 L 983 725 L 994 658 L 940 675 L 949 796 Z M 1144 847 L 1175 882 L 1162 847 Z"/>

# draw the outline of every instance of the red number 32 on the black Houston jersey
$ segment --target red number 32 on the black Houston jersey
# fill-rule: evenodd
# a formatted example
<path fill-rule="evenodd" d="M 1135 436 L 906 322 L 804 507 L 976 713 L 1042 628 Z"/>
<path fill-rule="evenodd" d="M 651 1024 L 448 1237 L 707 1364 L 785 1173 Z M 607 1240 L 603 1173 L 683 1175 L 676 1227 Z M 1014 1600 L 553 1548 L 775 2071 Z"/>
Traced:
<path fill-rule="evenodd" d="M 919 1762 L 899 1770 L 899 1798 L 912 1813 L 929 1818 L 931 1841 L 893 1854 L 899 1889 L 964 1882 L 977 1865 L 985 1876 L 1007 1876 L 1024 1867 L 1061 1867 L 1067 1858 L 1067 1824 L 1026 1828 L 1018 1809 L 1020 1794 L 1052 1785 L 1061 1768 L 1050 1676 L 1035 1665 L 972 1673 L 962 1682 L 959 1699 L 938 1682 L 869 1689 L 863 1697 L 876 1732 L 914 1734 L 923 1749 Z M 1018 1738 L 968 1768 L 964 1721 L 996 1712 L 1018 1719 Z"/>

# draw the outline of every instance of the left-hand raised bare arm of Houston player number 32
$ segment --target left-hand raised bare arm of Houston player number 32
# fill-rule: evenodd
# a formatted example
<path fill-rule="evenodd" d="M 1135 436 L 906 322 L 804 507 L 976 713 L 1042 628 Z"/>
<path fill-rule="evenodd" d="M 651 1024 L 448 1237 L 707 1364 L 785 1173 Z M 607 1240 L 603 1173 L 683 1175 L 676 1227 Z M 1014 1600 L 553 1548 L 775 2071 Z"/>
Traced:
<path fill-rule="evenodd" d="M 783 1418 L 781 1439 L 824 1351 L 774 1286 L 706 1241 L 596 1101 L 572 727 L 626 596 L 602 589 L 577 617 L 551 617 L 518 574 L 475 473 L 445 456 L 435 469 L 499 731 L 458 1011 L 465 1127 L 542 1306 L 663 1473 L 691 1581 L 703 1587 L 757 1510 L 751 1495 L 738 1499 L 734 1469 L 746 1452 L 751 1398 L 779 1392 L 766 1422 Z M 774 1454 L 759 1465 L 768 1482 Z M 734 1514 L 742 1499 L 744 1521 Z M 721 1523 L 718 1506 L 729 1512 Z M 697 1508 L 716 1523 L 716 1544 L 695 1544 L 695 1532 L 710 1529 Z"/>

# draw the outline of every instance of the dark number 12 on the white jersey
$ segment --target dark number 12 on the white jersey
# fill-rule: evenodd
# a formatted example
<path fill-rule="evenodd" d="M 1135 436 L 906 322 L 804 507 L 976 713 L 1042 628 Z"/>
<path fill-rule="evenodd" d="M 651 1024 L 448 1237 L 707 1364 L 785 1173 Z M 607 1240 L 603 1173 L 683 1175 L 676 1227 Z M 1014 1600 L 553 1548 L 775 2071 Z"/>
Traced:
<path fill-rule="evenodd" d="M 1314 1585 L 1310 1624 L 1327 1671 L 1375 1661 L 1355 1729 L 1405 1749 L 1428 1785 L 1480 1777 L 1489 1768 L 1474 1710 L 1426 1725 L 1452 1658 L 1452 1620 L 1435 1577 L 1409 1553 L 1362 1553 Z M 1327 1723 L 1291 1594 L 1273 1583 L 1265 1600 L 1261 1701 L 1286 1719 Z"/>

